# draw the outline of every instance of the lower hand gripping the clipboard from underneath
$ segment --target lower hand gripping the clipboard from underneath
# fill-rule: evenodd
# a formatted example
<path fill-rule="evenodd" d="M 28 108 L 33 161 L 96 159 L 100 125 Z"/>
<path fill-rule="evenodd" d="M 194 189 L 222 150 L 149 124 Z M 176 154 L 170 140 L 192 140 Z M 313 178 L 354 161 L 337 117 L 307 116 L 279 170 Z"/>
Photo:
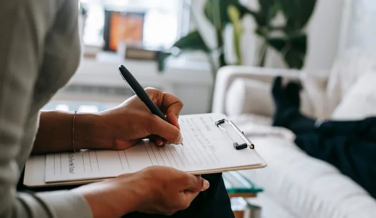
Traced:
<path fill-rule="evenodd" d="M 171 215 L 189 207 L 209 182 L 169 167 L 136 173 L 74 189 L 89 203 L 94 218 L 121 217 L 130 212 Z"/>

